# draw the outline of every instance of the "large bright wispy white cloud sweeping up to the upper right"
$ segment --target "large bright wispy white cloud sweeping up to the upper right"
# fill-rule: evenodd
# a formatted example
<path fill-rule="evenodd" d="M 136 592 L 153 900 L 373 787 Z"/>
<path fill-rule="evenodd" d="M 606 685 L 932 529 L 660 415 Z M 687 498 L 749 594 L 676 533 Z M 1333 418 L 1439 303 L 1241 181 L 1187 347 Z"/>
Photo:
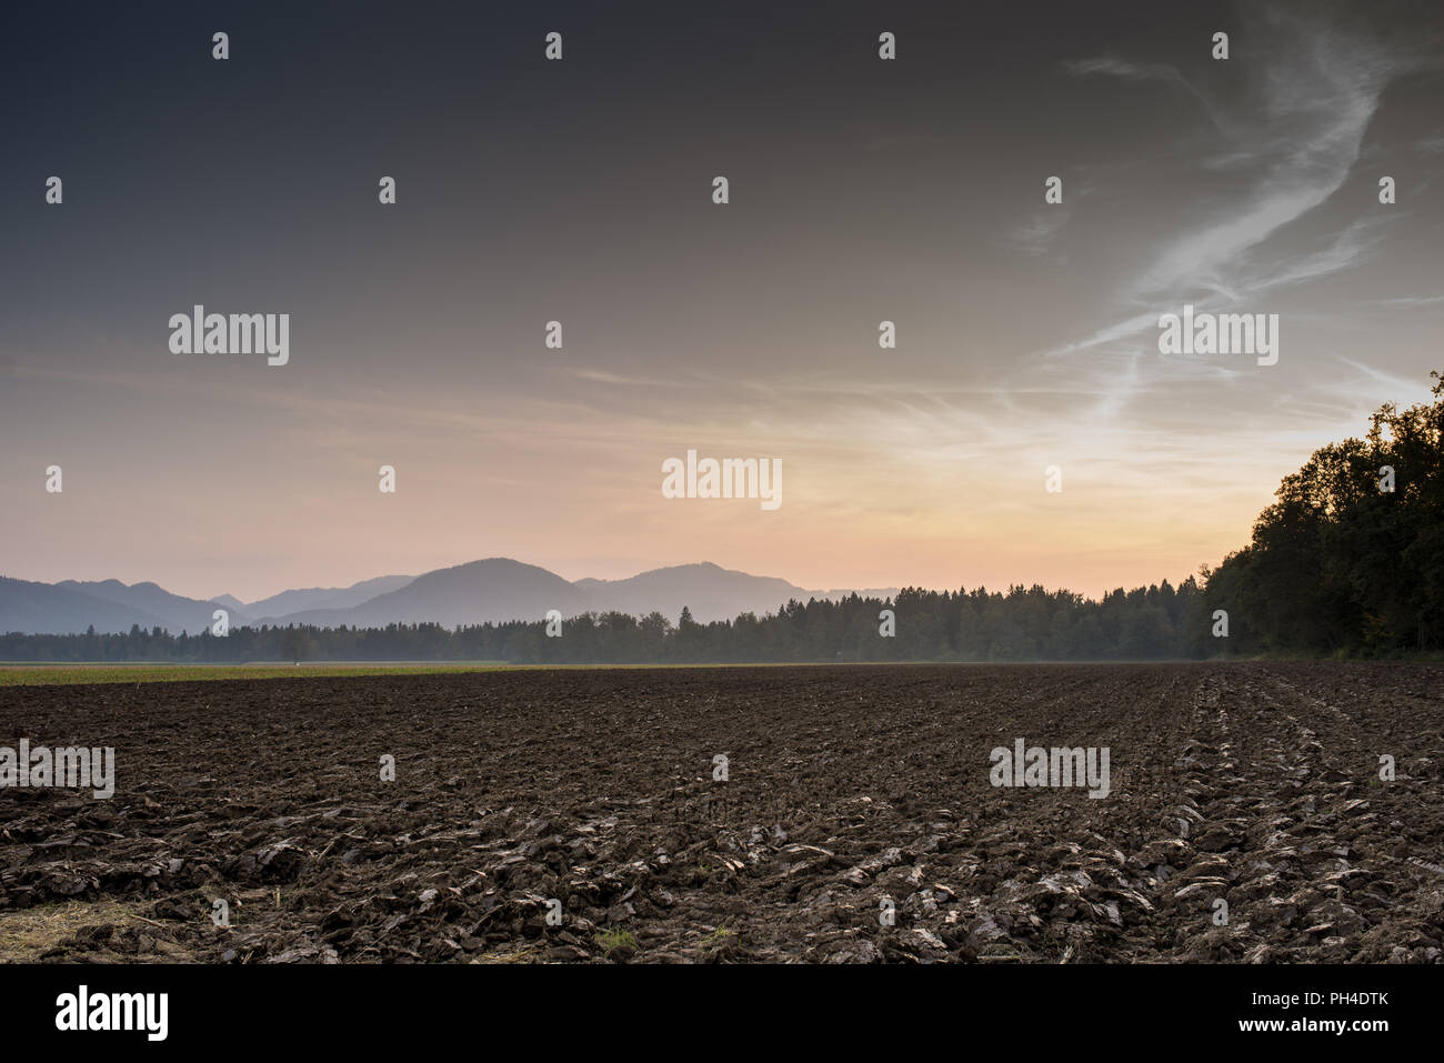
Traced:
<path fill-rule="evenodd" d="M 1334 276 L 1359 266 L 1380 243 L 1388 222 L 1379 218 L 1356 218 L 1331 235 L 1323 230 L 1331 222 L 1321 222 L 1313 234 L 1315 250 L 1307 253 L 1272 241 L 1344 186 L 1383 90 L 1411 69 L 1411 58 L 1308 9 L 1272 9 L 1249 36 L 1253 51 L 1268 58 L 1227 116 L 1167 64 L 1113 56 L 1066 64 L 1076 75 L 1177 85 L 1204 107 L 1214 130 L 1200 139 L 1196 127 L 1186 127 L 1187 146 L 1201 155 L 1165 178 L 1194 189 L 1194 220 L 1174 233 L 1139 233 L 1138 243 L 1157 250 L 1116 289 L 1122 316 L 1050 355 L 1136 341 L 1152 332 L 1161 311 L 1186 299 L 1200 308 L 1236 305 Z"/>

